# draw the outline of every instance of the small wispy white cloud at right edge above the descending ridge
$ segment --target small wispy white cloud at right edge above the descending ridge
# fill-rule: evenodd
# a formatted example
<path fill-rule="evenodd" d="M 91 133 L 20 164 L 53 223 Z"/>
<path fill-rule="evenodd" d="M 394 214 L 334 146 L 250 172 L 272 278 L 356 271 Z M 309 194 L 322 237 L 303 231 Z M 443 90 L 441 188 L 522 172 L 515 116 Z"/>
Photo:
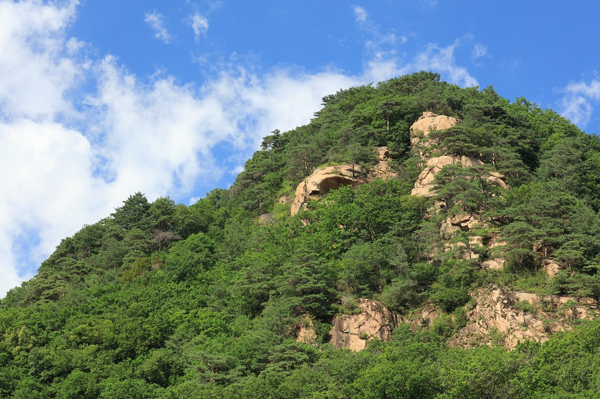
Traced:
<path fill-rule="evenodd" d="M 565 96 L 559 104 L 562 116 L 575 125 L 587 125 L 593 104 L 600 100 L 600 80 L 593 79 L 589 84 L 584 81 L 569 83 L 563 91 Z"/>

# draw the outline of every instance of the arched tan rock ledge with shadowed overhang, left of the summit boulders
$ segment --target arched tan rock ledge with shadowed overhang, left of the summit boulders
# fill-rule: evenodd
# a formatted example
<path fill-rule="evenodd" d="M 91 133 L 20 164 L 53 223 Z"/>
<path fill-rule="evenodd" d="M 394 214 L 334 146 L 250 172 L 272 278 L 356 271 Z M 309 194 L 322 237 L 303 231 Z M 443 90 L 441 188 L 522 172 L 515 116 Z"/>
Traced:
<path fill-rule="evenodd" d="M 298 213 L 301 208 L 312 198 L 326 195 L 330 190 L 338 189 L 341 186 L 356 186 L 380 177 L 383 180 L 396 177 L 387 161 L 389 156 L 388 147 L 377 147 L 377 157 L 379 163 L 368 171 L 366 177 L 363 175 L 362 168 L 355 165 L 337 165 L 326 168 L 318 168 L 311 173 L 304 182 L 299 183 L 296 188 L 296 195 L 292 202 L 292 215 Z"/>

